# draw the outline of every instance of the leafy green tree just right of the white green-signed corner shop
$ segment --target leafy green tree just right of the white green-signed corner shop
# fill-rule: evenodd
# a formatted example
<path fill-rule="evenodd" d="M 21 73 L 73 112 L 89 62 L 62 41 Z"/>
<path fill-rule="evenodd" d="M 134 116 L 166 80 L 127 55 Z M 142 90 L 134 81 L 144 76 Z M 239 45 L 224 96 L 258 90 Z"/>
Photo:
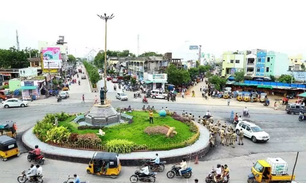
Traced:
<path fill-rule="evenodd" d="M 168 82 L 175 86 L 190 81 L 190 75 L 188 70 L 177 69 L 177 67 L 171 64 L 165 71 L 168 74 Z"/>

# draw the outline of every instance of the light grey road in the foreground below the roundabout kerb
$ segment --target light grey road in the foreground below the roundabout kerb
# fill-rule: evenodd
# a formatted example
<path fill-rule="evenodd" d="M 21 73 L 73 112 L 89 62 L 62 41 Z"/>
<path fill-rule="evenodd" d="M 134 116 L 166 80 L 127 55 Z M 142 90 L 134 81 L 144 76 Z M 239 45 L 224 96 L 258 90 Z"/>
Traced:
<path fill-rule="evenodd" d="M 27 169 L 30 163 L 26 160 L 26 155 L 23 154 L 20 157 L 9 159 L 5 162 L 0 162 L 0 182 L 17 182 L 17 177 L 22 170 Z M 152 153 L 153 156 L 153 153 Z M 305 152 L 300 152 L 299 159 L 295 169 L 296 180 L 300 183 L 306 182 L 304 177 L 304 168 L 306 160 L 303 158 L 306 156 Z M 204 182 L 203 179 L 207 176 L 212 167 L 216 167 L 216 164 L 220 163 L 222 165 L 227 164 L 230 168 L 230 182 L 235 183 L 245 183 L 248 174 L 250 174 L 250 168 L 253 166 L 256 160 L 266 159 L 267 157 L 282 157 L 286 162 L 289 163 L 289 174 L 292 173 L 294 161 L 296 158 L 296 153 L 285 152 L 285 153 L 260 153 L 252 154 L 248 156 L 240 156 L 234 158 L 227 158 L 222 160 L 211 160 L 200 162 L 195 165 L 193 162 L 190 163 L 190 167 L 193 168 L 192 177 L 187 182 L 194 182 L 193 179 L 199 179 L 199 182 Z M 120 157 L 119 157 L 120 158 Z M 188 160 L 187 160 L 188 161 Z M 189 162 L 188 162 L 189 163 Z M 46 183 L 56 183 L 63 182 L 68 174 L 78 174 L 81 181 L 93 182 L 129 182 L 129 177 L 134 174 L 137 167 L 122 167 L 121 174 L 117 179 L 111 179 L 109 177 L 97 177 L 90 174 L 86 174 L 85 168 L 88 164 L 81 163 L 70 163 L 62 162 L 57 160 L 46 159 L 43 165 L 43 174 L 45 176 Z M 166 172 L 170 170 L 171 165 L 166 165 L 165 171 L 157 173 L 157 183 L 185 183 L 186 179 L 173 178 L 168 179 L 166 177 Z"/>

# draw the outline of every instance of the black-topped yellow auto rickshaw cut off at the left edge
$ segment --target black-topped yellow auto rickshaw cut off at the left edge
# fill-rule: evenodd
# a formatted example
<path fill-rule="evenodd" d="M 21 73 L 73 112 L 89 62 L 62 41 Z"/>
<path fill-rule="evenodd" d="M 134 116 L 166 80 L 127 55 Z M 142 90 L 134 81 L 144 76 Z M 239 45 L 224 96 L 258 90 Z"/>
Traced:
<path fill-rule="evenodd" d="M 0 159 L 6 161 L 7 158 L 12 156 L 19 156 L 19 148 L 16 139 L 6 135 L 0 136 Z"/>

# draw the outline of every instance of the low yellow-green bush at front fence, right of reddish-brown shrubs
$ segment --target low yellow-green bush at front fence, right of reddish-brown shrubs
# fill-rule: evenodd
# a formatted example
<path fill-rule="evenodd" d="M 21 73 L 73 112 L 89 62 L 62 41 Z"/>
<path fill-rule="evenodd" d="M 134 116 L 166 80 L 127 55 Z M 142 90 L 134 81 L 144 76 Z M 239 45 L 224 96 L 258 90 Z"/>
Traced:
<path fill-rule="evenodd" d="M 106 142 L 105 150 L 107 152 L 130 153 L 134 150 L 136 144 L 126 139 L 112 139 Z"/>

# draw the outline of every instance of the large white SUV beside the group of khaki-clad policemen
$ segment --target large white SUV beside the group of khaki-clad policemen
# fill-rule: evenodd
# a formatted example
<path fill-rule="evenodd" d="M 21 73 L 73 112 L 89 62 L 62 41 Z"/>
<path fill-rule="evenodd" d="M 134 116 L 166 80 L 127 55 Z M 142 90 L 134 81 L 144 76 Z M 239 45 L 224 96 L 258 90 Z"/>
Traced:
<path fill-rule="evenodd" d="M 270 139 L 270 135 L 263 131 L 261 127 L 257 126 L 255 123 L 248 121 L 239 121 L 236 126 L 236 133 L 239 135 L 239 131 L 242 128 L 244 136 L 251 138 L 254 143 L 258 141 L 267 142 Z"/>

